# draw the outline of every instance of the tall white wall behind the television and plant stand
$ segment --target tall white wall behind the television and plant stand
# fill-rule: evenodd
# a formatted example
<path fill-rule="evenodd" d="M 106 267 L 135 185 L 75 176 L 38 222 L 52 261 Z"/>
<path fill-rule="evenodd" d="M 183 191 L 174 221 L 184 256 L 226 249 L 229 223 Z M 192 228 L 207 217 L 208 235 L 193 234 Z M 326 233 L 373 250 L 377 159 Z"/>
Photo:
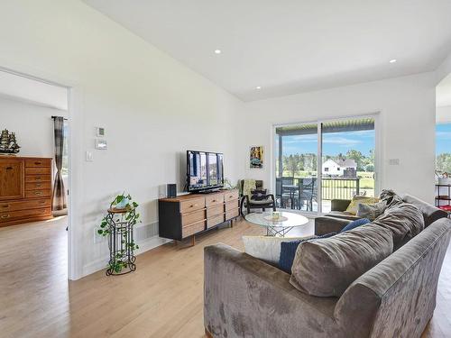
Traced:
<path fill-rule="evenodd" d="M 0 46 L 0 66 L 76 84 L 78 158 L 94 151 L 95 126 L 106 128 L 108 150 L 71 173 L 82 180 L 73 226 L 83 269 L 75 274 L 105 267 L 106 242 L 94 241 L 94 229 L 124 190 L 141 203 L 137 242 L 158 243 L 159 186 L 183 182 L 186 150 L 222 151 L 226 177 L 243 176 L 235 152 L 242 102 L 78 0 L 2 1 Z"/>

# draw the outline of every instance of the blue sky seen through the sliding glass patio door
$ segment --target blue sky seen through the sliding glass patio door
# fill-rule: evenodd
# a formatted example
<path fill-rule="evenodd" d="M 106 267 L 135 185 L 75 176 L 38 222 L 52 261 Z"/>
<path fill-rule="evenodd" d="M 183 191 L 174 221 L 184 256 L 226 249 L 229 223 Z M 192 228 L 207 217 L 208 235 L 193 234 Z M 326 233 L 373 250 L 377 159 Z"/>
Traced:
<path fill-rule="evenodd" d="M 317 134 L 283 136 L 284 155 L 317 153 L 317 149 Z M 374 131 L 327 132 L 323 135 L 324 155 L 336 156 L 340 152 L 345 154 L 346 151 L 355 150 L 367 156 L 372 149 L 374 149 Z"/>

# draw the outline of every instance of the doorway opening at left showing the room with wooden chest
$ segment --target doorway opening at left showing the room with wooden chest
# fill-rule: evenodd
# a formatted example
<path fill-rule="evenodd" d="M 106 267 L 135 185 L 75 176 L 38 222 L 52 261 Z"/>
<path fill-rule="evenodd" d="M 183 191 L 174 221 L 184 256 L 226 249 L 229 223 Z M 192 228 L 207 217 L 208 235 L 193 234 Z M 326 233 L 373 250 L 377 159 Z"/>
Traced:
<path fill-rule="evenodd" d="M 69 278 L 69 90 L 0 69 L 0 186 L 8 187 L 0 191 L 0 247 L 9 252 L 2 265 L 15 267 L 8 283 L 26 283 L 27 269 Z"/>

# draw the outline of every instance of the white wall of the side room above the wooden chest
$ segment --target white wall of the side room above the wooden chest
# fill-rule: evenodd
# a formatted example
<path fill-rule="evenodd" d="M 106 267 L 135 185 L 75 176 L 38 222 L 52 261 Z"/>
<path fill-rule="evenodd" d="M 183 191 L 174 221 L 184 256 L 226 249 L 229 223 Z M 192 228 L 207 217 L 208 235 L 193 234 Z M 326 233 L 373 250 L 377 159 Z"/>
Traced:
<path fill-rule="evenodd" d="M 0 129 L 15 132 L 22 147 L 20 156 L 50 157 L 54 155 L 52 115 L 67 116 L 67 112 L 32 105 L 0 96 Z"/>

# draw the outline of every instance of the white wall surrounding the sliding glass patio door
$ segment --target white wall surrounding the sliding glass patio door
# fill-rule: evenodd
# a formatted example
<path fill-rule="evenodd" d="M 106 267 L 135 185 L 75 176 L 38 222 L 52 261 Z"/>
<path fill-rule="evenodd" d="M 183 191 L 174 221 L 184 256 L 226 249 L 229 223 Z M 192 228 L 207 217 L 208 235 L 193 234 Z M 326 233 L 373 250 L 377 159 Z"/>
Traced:
<path fill-rule="evenodd" d="M 266 166 L 246 177 L 271 182 L 270 149 L 274 123 L 299 123 L 380 112 L 381 187 L 434 201 L 435 73 L 393 78 L 245 104 L 246 141 L 264 145 Z M 258 131 L 258 132 L 251 132 Z M 399 159 L 400 165 L 389 165 Z"/>

